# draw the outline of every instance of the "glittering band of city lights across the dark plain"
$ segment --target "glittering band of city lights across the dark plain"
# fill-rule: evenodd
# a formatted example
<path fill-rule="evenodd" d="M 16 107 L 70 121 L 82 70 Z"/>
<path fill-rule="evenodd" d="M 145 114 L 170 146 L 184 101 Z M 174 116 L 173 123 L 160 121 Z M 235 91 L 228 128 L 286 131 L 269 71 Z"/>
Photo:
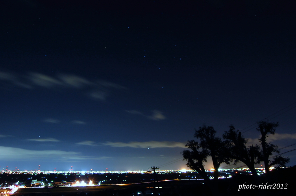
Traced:
<path fill-rule="evenodd" d="M 273 169 L 273 168 L 271 168 Z M 258 175 L 264 174 L 263 168 L 256 168 Z M 161 181 L 172 180 L 203 180 L 203 178 L 195 171 L 189 169 L 181 170 L 158 170 L 157 175 L 163 177 L 158 179 Z M 213 169 L 206 170 L 209 179 L 213 179 Z M 54 187 L 87 187 L 87 186 L 102 186 L 103 185 L 129 185 L 143 184 L 153 182 L 154 175 L 152 171 L 19 171 L 19 170 L 2 170 L 0 175 L 15 176 L 16 174 L 25 175 L 26 182 L 18 180 L 17 182 L 9 182 L 0 184 L 2 189 L 5 189 L 7 194 L 16 193 L 22 188 L 54 188 Z M 240 169 L 219 169 L 219 179 L 232 178 L 236 175 L 252 175 L 248 168 Z M 133 176 L 139 175 L 141 179 L 130 181 Z M 50 178 L 49 178 L 50 177 Z M 58 177 L 59 181 L 55 182 Z M 129 179 L 129 177 L 131 177 Z M 99 179 L 98 179 L 99 178 Z M 28 182 L 30 184 L 28 184 Z M 3 192 L 2 192 L 3 193 Z M 141 193 L 142 194 L 142 193 Z M 138 194 L 139 195 L 139 194 Z"/>

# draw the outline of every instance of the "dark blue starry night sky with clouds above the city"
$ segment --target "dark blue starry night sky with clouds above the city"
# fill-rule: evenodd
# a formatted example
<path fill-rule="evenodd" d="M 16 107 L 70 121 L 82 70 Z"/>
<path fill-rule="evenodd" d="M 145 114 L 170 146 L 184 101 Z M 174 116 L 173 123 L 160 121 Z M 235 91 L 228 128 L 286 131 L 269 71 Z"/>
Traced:
<path fill-rule="evenodd" d="M 266 117 L 296 143 L 295 2 L 98 2 L 1 1 L 1 169 L 186 169 L 194 128 Z"/>

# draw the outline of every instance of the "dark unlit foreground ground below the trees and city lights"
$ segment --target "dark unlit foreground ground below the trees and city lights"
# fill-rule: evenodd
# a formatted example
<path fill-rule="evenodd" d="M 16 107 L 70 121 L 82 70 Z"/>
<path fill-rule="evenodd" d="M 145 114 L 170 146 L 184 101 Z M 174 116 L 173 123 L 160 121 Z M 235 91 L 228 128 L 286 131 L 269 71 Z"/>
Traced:
<path fill-rule="evenodd" d="M 141 195 L 170 195 L 170 196 L 197 196 L 197 195 L 295 195 L 296 166 L 278 169 L 271 172 L 269 177 L 253 178 L 240 174 L 231 179 L 211 180 L 204 184 L 203 180 L 172 180 L 158 182 L 162 188 L 154 188 L 154 183 L 129 185 L 102 185 L 95 187 L 58 187 L 58 188 L 25 188 L 19 189 L 15 196 L 141 196 Z M 239 190 L 239 187 L 241 188 Z M 245 185 L 243 187 L 243 185 Z M 249 186 L 248 186 L 249 185 Z M 250 188 L 252 185 L 253 188 Z M 254 187 L 261 185 L 261 187 Z M 157 186 L 157 185 L 156 185 Z M 248 189 L 247 189 L 248 188 Z M 238 191 L 239 190 L 239 191 Z M 153 193 L 153 194 L 152 194 Z"/>

